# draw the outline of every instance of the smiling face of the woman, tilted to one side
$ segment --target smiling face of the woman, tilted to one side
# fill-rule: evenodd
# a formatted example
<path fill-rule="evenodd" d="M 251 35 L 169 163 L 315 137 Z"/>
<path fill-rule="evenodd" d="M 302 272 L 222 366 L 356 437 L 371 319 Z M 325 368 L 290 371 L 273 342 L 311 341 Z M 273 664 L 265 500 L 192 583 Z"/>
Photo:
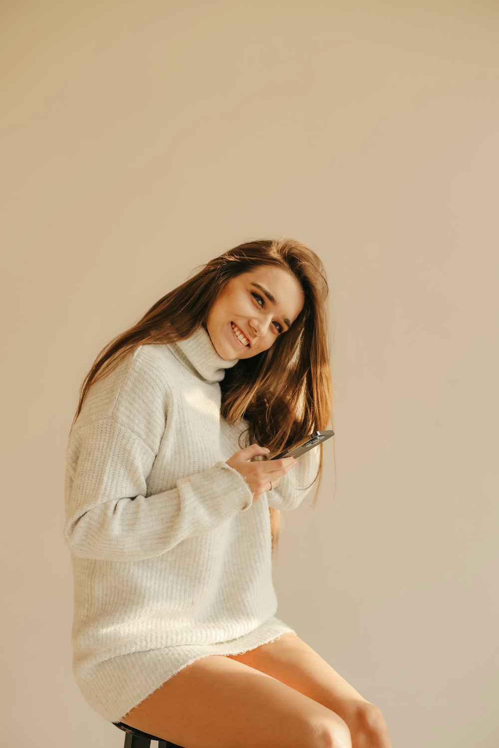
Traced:
<path fill-rule="evenodd" d="M 206 328 L 221 358 L 251 358 L 286 334 L 303 304 L 304 292 L 294 275 L 260 266 L 227 281 Z"/>

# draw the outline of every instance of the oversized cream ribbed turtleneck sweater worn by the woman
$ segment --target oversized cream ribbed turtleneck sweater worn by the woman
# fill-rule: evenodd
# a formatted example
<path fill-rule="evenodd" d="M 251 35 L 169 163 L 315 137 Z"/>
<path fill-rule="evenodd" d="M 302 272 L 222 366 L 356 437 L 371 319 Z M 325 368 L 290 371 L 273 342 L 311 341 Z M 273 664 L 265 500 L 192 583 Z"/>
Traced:
<path fill-rule="evenodd" d="M 293 631 L 275 618 L 269 506 L 299 506 L 319 450 L 253 500 L 225 462 L 248 444 L 239 443 L 248 423 L 220 415 L 219 382 L 236 364 L 202 327 L 139 346 L 90 388 L 71 429 L 73 672 L 108 720 L 199 657 Z"/>

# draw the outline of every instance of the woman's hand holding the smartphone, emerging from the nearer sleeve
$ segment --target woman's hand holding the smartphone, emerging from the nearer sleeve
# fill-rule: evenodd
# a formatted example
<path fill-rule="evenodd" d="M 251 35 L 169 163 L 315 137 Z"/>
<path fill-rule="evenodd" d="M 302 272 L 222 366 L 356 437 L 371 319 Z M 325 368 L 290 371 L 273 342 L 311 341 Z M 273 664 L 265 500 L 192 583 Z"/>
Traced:
<path fill-rule="evenodd" d="M 227 465 L 238 473 L 248 483 L 250 491 L 253 494 L 253 500 L 258 501 L 265 491 L 279 485 L 282 476 L 294 468 L 296 459 L 294 457 L 282 457 L 279 460 L 255 460 L 250 462 L 257 455 L 268 455 L 269 450 L 266 447 L 259 447 L 258 444 L 251 444 L 244 450 L 239 450 L 228 460 Z"/>

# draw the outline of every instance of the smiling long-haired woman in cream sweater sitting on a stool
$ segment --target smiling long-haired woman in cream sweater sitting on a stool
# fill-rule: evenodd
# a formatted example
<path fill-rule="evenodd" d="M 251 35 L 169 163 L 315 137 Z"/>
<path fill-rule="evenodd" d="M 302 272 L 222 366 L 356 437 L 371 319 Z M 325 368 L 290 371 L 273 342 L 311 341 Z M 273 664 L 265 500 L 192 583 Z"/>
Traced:
<path fill-rule="evenodd" d="M 100 353 L 67 447 L 73 670 L 103 717 L 189 748 L 389 748 L 381 712 L 275 617 L 278 510 L 331 416 L 322 263 L 239 245 Z"/>

